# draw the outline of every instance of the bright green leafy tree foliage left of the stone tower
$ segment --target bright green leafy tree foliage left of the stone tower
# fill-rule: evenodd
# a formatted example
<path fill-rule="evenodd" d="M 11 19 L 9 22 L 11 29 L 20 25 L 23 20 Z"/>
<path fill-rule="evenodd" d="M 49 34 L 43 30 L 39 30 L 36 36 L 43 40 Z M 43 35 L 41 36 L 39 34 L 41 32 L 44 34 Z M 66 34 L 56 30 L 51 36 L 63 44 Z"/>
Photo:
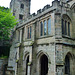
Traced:
<path fill-rule="evenodd" d="M 17 24 L 17 20 L 10 9 L 0 7 L 0 40 L 8 40 L 11 29 Z"/>

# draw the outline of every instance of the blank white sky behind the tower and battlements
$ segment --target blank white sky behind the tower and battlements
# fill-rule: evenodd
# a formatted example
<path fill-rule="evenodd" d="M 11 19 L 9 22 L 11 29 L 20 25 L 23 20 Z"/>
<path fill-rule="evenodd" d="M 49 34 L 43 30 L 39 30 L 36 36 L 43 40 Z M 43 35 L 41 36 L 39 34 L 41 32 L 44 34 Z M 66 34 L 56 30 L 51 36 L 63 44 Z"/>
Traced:
<path fill-rule="evenodd" d="M 11 0 L 0 0 L 0 6 L 10 7 Z M 42 9 L 45 5 L 50 4 L 53 0 L 31 0 L 31 13 L 36 13 L 37 10 Z"/>

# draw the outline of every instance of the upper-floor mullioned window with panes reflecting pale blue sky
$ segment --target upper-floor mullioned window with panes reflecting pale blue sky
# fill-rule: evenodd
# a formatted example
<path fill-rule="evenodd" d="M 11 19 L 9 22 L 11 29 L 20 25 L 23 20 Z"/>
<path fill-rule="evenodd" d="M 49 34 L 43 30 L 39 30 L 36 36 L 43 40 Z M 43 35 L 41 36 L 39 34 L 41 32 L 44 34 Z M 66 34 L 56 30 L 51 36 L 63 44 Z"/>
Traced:
<path fill-rule="evenodd" d="M 40 22 L 40 36 L 51 34 L 51 18 L 47 18 Z"/>

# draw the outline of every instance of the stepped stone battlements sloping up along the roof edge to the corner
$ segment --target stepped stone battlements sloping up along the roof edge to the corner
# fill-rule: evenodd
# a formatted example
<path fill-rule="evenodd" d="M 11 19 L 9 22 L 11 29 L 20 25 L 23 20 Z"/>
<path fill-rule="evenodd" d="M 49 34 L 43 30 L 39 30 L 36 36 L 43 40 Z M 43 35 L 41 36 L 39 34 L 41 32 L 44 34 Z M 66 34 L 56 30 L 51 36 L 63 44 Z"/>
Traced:
<path fill-rule="evenodd" d="M 47 13 L 47 12 L 51 12 L 51 11 L 56 11 L 56 12 L 58 12 L 58 11 L 59 11 L 59 7 L 70 8 L 70 5 L 69 5 L 68 3 L 63 3 L 63 2 L 61 3 L 61 2 L 58 1 L 58 0 L 54 0 L 54 1 L 52 2 L 52 6 L 50 6 L 50 5 L 47 4 L 46 6 L 43 7 L 43 9 L 37 10 L 37 13 L 33 13 L 33 14 L 31 14 L 28 18 L 26 18 L 26 19 L 20 21 L 19 24 L 18 24 L 18 26 L 19 26 L 19 25 L 21 26 L 21 24 L 24 24 L 24 22 L 25 22 L 25 23 L 28 22 L 28 20 L 30 21 L 30 20 L 36 19 L 36 18 L 39 17 L 40 15 L 43 15 L 43 14 L 45 14 L 45 13 Z M 57 11 L 57 10 L 58 10 L 58 11 Z"/>

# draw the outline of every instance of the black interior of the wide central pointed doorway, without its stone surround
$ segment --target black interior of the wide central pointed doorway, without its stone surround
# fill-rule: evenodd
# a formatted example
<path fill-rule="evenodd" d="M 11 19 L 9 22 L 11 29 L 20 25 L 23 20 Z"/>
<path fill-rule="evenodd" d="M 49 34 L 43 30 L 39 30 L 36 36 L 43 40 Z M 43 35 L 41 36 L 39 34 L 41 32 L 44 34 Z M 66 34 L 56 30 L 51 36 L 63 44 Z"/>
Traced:
<path fill-rule="evenodd" d="M 44 54 L 40 58 L 40 68 L 41 68 L 41 74 L 40 75 L 47 75 L 48 74 L 48 58 Z"/>

